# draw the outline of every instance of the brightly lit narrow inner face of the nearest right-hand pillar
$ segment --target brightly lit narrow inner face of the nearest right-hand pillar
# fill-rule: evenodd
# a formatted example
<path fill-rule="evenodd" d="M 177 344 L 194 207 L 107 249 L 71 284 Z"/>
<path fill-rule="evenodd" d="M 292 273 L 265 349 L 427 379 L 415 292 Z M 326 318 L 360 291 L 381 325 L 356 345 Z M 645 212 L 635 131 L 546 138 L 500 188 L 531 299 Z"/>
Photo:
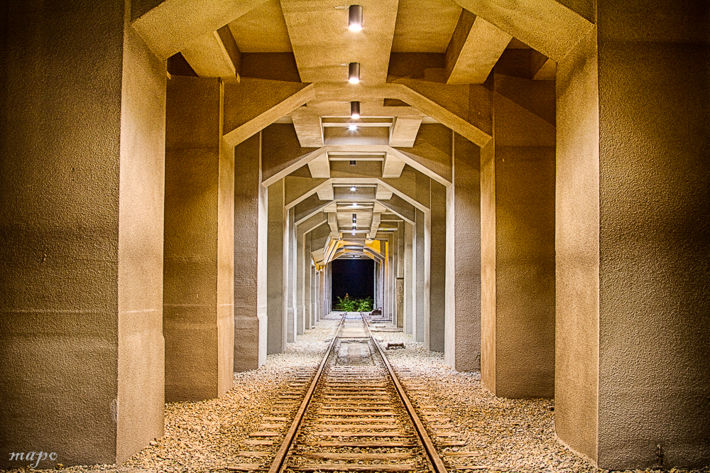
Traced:
<path fill-rule="evenodd" d="M 557 71 L 555 430 L 597 460 L 599 92 L 596 28 Z"/>

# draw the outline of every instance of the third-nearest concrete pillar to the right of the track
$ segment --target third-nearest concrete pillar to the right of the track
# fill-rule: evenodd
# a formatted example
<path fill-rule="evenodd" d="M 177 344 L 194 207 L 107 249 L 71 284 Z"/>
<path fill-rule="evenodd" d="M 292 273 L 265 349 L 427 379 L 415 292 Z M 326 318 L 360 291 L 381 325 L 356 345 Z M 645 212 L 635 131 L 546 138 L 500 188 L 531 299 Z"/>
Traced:
<path fill-rule="evenodd" d="M 453 183 L 447 187 L 446 343 L 457 371 L 481 369 L 481 157 L 454 134 Z"/>

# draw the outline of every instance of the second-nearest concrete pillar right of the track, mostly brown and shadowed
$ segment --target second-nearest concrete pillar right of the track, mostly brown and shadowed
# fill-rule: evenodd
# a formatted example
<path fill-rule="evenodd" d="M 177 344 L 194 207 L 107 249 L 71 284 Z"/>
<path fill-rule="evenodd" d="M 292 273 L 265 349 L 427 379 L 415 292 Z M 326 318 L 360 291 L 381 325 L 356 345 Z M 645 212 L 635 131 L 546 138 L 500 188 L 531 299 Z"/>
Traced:
<path fill-rule="evenodd" d="M 481 381 L 555 393 L 555 83 L 496 74 L 481 150 Z"/>

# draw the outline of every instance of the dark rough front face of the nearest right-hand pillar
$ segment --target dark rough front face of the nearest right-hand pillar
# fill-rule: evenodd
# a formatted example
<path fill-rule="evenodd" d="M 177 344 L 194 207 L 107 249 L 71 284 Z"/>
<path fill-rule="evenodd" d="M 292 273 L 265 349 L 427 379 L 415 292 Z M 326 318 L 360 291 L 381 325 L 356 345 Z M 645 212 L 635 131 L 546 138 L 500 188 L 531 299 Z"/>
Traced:
<path fill-rule="evenodd" d="M 599 464 L 706 465 L 710 9 L 597 8 Z"/>

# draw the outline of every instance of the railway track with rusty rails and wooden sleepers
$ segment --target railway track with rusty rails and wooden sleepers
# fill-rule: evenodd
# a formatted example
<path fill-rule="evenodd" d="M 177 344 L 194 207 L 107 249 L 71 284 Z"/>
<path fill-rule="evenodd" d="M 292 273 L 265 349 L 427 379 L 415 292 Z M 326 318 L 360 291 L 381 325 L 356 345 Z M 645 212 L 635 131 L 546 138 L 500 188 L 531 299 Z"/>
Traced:
<path fill-rule="evenodd" d="M 427 424 L 434 419 L 426 411 L 420 410 L 424 422 L 417 415 L 364 317 L 344 317 L 320 366 L 304 369 L 289 386 L 261 430 L 242 442 L 255 449 L 239 452 L 250 463 L 228 469 L 447 472 L 427 428 L 435 438 L 442 433 Z M 416 399 L 419 387 L 408 389 Z"/>

